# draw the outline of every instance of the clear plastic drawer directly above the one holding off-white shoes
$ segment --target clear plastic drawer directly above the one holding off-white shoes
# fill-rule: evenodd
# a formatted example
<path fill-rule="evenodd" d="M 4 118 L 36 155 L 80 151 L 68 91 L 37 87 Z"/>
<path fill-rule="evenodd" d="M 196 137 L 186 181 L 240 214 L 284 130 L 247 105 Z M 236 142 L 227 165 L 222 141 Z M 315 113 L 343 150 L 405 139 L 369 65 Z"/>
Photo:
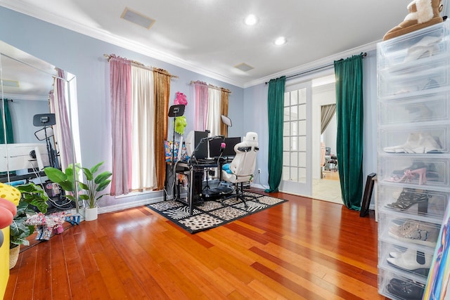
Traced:
<path fill-rule="evenodd" d="M 427 100 L 424 101 L 423 98 Z M 450 120 L 450 91 L 428 95 L 380 100 L 378 124 L 405 124 Z"/>

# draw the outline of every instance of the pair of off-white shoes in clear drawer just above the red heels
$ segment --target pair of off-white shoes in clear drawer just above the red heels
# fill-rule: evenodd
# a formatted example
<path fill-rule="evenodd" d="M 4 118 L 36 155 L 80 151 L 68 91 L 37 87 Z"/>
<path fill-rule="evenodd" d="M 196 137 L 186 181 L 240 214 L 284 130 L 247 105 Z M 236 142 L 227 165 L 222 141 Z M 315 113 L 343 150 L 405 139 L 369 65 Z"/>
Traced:
<path fill-rule="evenodd" d="M 408 140 L 403 145 L 385 147 L 387 153 L 430 153 L 442 152 L 440 143 L 428 132 L 409 133 Z"/>

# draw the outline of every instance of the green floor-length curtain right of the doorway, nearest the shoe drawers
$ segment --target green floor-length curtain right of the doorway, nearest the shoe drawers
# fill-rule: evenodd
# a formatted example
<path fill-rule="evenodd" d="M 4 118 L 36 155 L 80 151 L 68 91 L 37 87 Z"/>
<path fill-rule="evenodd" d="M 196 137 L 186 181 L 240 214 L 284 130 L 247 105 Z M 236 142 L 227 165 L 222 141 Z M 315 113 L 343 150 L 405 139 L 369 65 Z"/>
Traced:
<path fill-rule="evenodd" d="M 336 148 L 342 201 L 361 209 L 363 193 L 363 58 L 334 62 L 336 77 Z"/>

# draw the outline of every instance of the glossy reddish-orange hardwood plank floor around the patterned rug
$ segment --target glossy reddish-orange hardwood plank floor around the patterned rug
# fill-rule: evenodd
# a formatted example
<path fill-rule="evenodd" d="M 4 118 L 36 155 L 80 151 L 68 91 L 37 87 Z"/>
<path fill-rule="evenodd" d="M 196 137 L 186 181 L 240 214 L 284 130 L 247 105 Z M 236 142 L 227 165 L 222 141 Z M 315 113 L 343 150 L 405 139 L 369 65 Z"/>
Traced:
<path fill-rule="evenodd" d="M 4 299 L 385 299 L 377 223 L 288 202 L 195 235 L 146 207 L 101 214 L 20 253 Z"/>

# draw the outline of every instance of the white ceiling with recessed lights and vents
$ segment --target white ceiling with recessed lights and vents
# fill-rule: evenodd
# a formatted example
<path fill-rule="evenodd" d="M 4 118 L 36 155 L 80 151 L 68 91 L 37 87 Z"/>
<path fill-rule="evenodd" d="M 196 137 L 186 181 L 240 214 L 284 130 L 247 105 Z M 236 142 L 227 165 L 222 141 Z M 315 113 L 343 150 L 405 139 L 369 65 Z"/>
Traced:
<path fill-rule="evenodd" d="M 364 45 L 373 48 L 404 19 L 410 1 L 0 0 L 0 5 L 246 87 Z M 126 7 L 155 24 L 148 30 L 120 18 Z M 259 20 L 252 27 L 243 22 L 249 13 Z M 274 45 L 279 36 L 288 43 Z M 254 69 L 238 70 L 234 66 L 240 63 Z"/>

